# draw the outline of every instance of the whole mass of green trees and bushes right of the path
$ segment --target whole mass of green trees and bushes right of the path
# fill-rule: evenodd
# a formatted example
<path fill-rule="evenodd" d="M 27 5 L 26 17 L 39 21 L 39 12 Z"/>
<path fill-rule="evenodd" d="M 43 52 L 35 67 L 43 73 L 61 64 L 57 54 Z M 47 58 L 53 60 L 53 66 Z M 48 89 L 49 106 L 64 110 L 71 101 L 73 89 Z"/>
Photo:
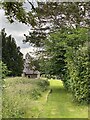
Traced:
<path fill-rule="evenodd" d="M 45 41 L 41 70 L 47 76 L 58 76 L 65 88 L 79 102 L 90 101 L 89 29 L 62 29 Z M 45 57 L 48 56 L 48 57 Z"/>

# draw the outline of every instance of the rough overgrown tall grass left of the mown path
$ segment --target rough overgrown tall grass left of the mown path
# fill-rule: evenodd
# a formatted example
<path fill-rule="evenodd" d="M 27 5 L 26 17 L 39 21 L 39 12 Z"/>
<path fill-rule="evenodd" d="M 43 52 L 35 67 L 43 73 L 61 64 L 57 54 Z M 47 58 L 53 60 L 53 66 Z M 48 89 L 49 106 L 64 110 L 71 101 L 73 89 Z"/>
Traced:
<path fill-rule="evenodd" d="M 43 79 L 6 78 L 3 86 L 3 118 L 37 118 L 46 102 L 49 82 Z"/>

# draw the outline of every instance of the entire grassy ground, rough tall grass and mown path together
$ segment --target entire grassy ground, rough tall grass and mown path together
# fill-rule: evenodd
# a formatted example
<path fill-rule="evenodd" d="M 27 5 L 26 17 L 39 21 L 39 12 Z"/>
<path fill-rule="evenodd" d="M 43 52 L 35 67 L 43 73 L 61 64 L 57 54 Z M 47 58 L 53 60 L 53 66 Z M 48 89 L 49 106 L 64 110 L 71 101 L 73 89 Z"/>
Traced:
<path fill-rule="evenodd" d="M 87 105 L 74 102 L 60 80 L 50 80 L 50 87 L 49 94 L 43 79 L 7 78 L 3 88 L 3 118 L 88 117 Z"/>

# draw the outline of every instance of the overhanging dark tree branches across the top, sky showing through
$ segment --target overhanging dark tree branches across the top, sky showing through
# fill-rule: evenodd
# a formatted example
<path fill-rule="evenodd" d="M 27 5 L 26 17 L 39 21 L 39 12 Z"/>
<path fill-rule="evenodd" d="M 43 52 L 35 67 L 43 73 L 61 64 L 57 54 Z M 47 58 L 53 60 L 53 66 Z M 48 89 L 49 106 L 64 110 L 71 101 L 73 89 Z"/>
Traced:
<path fill-rule="evenodd" d="M 88 27 L 90 2 L 37 2 L 37 6 L 30 4 L 27 11 L 24 2 L 4 2 L 3 9 L 7 19 L 15 20 L 32 26 L 29 35 L 25 35 L 24 42 L 36 46 L 43 46 L 47 33 L 57 31 L 62 27 Z M 42 11 L 42 12 L 41 12 Z"/>

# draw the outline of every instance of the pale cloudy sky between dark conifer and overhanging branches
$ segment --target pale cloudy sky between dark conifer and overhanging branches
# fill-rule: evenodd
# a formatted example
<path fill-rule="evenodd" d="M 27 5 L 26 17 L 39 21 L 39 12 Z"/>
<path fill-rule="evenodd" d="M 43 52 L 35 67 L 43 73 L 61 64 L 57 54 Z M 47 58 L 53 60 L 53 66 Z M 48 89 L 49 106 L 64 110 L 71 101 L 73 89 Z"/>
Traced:
<path fill-rule="evenodd" d="M 23 43 L 23 39 L 25 39 L 24 34 L 29 33 L 30 26 L 19 23 L 17 21 L 10 24 L 9 21 L 6 19 L 6 16 L 4 15 L 4 10 L 0 9 L 0 31 L 3 28 L 5 28 L 7 35 L 12 35 L 12 37 L 15 38 L 16 44 L 17 46 L 20 46 L 20 51 L 23 53 L 24 58 L 27 52 L 35 51 L 35 49 L 32 46 L 30 46 L 29 43 Z"/>

